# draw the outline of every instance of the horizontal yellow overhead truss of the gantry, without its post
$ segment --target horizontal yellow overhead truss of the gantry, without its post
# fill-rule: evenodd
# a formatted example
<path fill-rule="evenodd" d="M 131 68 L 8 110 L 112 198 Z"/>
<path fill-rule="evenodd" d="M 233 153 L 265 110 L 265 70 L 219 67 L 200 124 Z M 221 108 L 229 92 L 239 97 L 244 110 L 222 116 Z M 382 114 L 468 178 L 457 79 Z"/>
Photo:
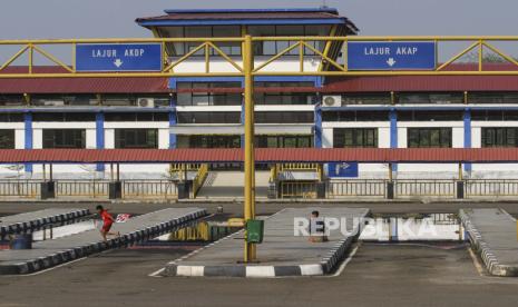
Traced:
<path fill-rule="evenodd" d="M 0 78 L 75 78 L 75 77 L 205 77 L 205 76 L 221 76 L 221 77 L 245 77 L 244 62 L 246 58 L 255 59 L 253 55 L 253 48 L 245 52 L 243 48 L 242 56 L 227 55 L 222 48 L 222 43 L 237 43 L 241 42 L 245 46 L 247 36 L 242 38 L 149 38 L 149 39 L 42 39 L 42 40 L 0 40 L 0 49 L 6 46 L 18 47 L 18 51 L 14 52 L 8 60 L 0 66 Z M 517 70 L 485 70 L 483 68 L 483 50 L 489 50 L 501 57 L 504 61 L 507 61 L 518 68 L 518 61 L 507 52 L 502 51 L 501 48 L 495 46 L 499 42 L 518 42 L 518 37 L 248 37 L 251 43 L 265 42 L 265 41 L 289 41 L 290 47 L 281 50 L 276 55 L 271 56 L 265 61 L 254 67 L 251 70 L 252 76 L 448 76 L 448 75 L 492 75 L 492 76 L 506 76 L 506 75 L 518 75 Z M 437 63 L 434 69 L 431 70 L 380 70 L 380 71 L 359 71 L 348 69 L 346 52 L 344 52 L 344 63 L 338 63 L 336 59 L 329 57 L 328 51 L 330 44 L 333 42 L 341 43 L 342 50 L 348 46 L 348 42 L 354 41 L 369 41 L 369 42 L 393 42 L 393 41 L 429 41 L 436 42 L 436 52 L 441 53 L 442 42 L 465 42 L 469 46 L 458 52 L 457 55 L 449 57 L 442 63 Z M 85 72 L 76 70 L 76 48 L 82 43 L 162 43 L 164 59 L 160 71 L 154 72 Z M 166 53 L 166 44 L 168 43 L 183 43 L 189 42 L 197 44 L 190 51 L 183 56 L 173 56 Z M 321 42 L 324 49 L 317 50 L 310 42 Z M 52 55 L 46 50 L 49 46 L 67 46 L 71 52 L 71 63 L 66 63 L 60 60 L 58 56 Z M 312 56 L 304 55 L 304 50 L 310 50 Z M 478 69 L 446 69 L 452 62 L 460 59 L 462 56 L 470 51 L 478 52 Z M 1 52 L 1 51 L 0 51 Z M 204 70 L 192 72 L 180 71 L 177 67 L 180 63 L 187 62 L 195 55 L 204 53 Z M 297 69 L 283 69 L 276 68 L 275 70 L 266 70 L 265 68 L 270 65 L 281 61 L 284 56 L 295 55 L 299 58 Z M 10 72 L 6 68 L 10 67 L 16 60 L 20 59 L 23 55 L 28 55 L 28 71 L 25 72 Z M 35 71 L 35 55 L 40 55 L 53 62 L 57 67 L 61 67 L 62 71 L 56 72 L 38 72 Z M 320 57 L 322 62 L 325 62 L 328 69 L 322 63 L 319 65 L 319 69 L 307 70 L 304 69 L 304 60 L 307 57 Z M 198 57 L 199 58 L 199 57 Z M 212 69 L 211 63 L 215 58 L 224 59 L 228 62 L 233 69 L 228 71 L 216 71 Z M 254 61 L 254 60 L 253 60 Z"/>

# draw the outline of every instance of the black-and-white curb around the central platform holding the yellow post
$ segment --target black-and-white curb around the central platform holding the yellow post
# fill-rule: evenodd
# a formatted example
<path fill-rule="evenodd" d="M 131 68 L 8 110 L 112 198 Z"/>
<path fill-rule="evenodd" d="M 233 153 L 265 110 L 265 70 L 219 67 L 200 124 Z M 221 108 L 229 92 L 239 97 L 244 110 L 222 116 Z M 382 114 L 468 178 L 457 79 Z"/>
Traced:
<path fill-rule="evenodd" d="M 284 210 L 284 209 L 283 209 Z M 276 212 L 275 215 L 282 212 Z M 275 216 L 272 215 L 268 218 Z M 320 263 L 304 264 L 304 265 L 290 265 L 290 266 L 263 266 L 263 265 L 223 265 L 223 266 L 184 266 L 182 261 L 188 259 L 190 256 L 201 252 L 205 248 L 217 245 L 224 240 L 233 239 L 236 236 L 242 236 L 244 230 L 232 234 L 222 238 L 213 244 L 199 248 L 184 257 L 180 257 L 164 268 L 160 274 L 164 277 L 245 277 L 245 278 L 273 278 L 273 277 L 297 277 L 297 276 L 322 276 L 330 274 L 335 266 L 343 259 L 345 252 L 351 247 L 352 242 L 358 239 L 360 231 L 358 225 L 353 229 L 351 237 L 346 237 L 335 242 L 333 248 L 322 257 Z"/>

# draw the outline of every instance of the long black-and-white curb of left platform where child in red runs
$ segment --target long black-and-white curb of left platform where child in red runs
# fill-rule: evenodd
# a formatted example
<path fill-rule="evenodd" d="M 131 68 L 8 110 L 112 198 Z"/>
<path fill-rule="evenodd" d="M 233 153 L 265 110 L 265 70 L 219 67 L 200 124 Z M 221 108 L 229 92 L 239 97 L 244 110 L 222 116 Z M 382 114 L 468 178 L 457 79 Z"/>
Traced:
<path fill-rule="evenodd" d="M 153 227 L 146 227 L 131 231 L 129 234 L 124 234 L 119 238 L 109 239 L 106 242 L 90 242 L 88 245 L 77 246 L 70 249 L 61 250 L 53 255 L 48 255 L 46 257 L 40 257 L 16 265 L 0 265 L 0 275 L 32 274 L 105 250 L 127 247 L 183 228 L 187 224 L 193 222 L 195 219 L 198 219 L 206 215 L 207 211 L 205 209 L 198 209 L 197 211 L 186 215 L 185 217 L 175 218 L 166 222 L 160 222 Z"/>

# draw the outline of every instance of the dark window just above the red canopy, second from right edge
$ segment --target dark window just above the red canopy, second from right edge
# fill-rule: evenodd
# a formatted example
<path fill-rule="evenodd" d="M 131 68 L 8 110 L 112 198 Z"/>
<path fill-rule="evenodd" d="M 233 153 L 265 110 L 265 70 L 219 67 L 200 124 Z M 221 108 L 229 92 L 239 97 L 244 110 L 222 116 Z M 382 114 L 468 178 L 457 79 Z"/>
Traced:
<path fill-rule="evenodd" d="M 451 128 L 409 128 L 408 147 L 451 147 Z"/>

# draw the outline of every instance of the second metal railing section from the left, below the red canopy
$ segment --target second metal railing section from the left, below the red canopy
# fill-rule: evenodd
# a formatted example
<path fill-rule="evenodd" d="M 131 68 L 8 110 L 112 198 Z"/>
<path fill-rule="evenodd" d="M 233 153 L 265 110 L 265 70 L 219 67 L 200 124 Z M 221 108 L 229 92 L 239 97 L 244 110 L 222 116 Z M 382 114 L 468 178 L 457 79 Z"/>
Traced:
<path fill-rule="evenodd" d="M 56 180 L 56 197 L 108 197 L 108 180 Z"/>

